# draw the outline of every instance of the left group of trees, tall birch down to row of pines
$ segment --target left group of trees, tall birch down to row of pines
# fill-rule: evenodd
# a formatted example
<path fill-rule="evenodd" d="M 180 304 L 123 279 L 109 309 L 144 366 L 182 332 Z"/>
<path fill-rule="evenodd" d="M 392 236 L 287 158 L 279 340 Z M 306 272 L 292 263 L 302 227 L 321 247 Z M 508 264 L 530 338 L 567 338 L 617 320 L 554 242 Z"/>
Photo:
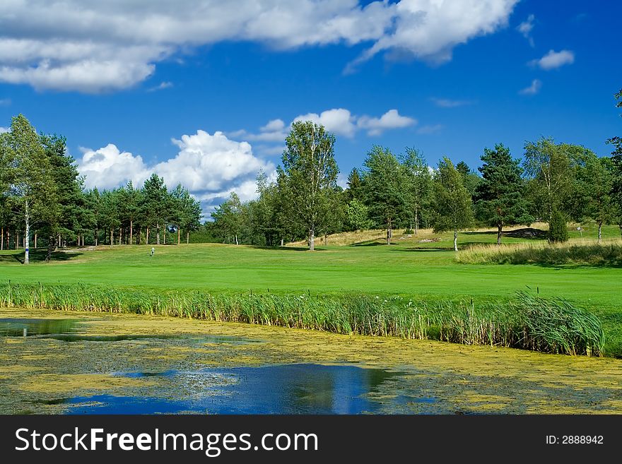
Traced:
<path fill-rule="evenodd" d="M 201 205 L 178 184 L 152 174 L 141 187 L 85 189 L 66 138 L 37 134 L 22 114 L 0 134 L 0 249 L 60 246 L 179 244 L 200 226 Z"/>

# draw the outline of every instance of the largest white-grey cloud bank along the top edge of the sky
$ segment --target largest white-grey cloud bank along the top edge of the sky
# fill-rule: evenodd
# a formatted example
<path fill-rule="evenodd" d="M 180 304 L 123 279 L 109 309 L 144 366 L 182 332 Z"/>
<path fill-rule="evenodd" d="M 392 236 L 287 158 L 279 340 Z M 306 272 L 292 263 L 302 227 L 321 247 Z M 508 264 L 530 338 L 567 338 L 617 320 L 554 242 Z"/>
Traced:
<path fill-rule="evenodd" d="M 518 0 L 10 1 L 0 16 L 0 81 L 37 89 L 114 91 L 163 59 L 223 41 L 272 49 L 370 44 L 426 61 L 507 25 Z"/>

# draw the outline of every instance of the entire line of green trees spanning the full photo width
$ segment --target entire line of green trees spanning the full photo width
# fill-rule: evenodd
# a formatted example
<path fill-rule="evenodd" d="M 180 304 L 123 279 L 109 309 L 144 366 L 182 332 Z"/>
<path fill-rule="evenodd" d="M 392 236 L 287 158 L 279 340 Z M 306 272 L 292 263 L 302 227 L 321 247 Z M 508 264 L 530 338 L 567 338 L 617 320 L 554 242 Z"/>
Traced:
<path fill-rule="evenodd" d="M 616 94 L 622 107 L 622 90 Z M 85 189 L 62 136 L 37 134 L 22 114 L 0 134 L 0 249 L 99 244 L 179 244 L 182 232 L 201 241 L 278 246 L 336 232 L 384 228 L 417 234 L 421 227 L 458 232 L 548 222 L 549 239 L 568 239 L 567 222 L 616 224 L 622 232 L 622 138 L 611 156 L 541 137 L 524 144 L 522 160 L 499 143 L 485 148 L 477 172 L 442 157 L 434 168 L 416 148 L 392 153 L 374 145 L 361 167 L 337 185 L 335 136 L 312 121 L 297 121 L 286 137 L 276 177 L 257 177 L 258 198 L 235 194 L 201 225 L 201 207 L 181 184 L 168 189 L 152 174 L 142 186 Z M 177 237 L 175 237 L 177 235 Z"/>

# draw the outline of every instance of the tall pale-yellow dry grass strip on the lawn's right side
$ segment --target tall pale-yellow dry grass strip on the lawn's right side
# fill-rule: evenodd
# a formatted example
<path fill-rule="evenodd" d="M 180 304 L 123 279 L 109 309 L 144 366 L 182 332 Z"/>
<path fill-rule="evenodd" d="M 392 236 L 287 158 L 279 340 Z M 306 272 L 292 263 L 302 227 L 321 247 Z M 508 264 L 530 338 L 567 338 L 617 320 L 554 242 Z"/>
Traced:
<path fill-rule="evenodd" d="M 587 266 L 622 265 L 622 240 L 608 239 L 600 244 L 574 241 L 562 244 L 474 245 L 459 251 L 456 260 L 464 264 L 578 264 Z"/>

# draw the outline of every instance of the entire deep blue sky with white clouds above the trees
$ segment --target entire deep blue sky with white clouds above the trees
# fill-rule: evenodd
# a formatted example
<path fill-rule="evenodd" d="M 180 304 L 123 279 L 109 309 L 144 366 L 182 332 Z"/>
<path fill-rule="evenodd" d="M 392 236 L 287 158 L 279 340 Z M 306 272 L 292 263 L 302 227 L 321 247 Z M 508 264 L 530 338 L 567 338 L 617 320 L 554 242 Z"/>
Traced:
<path fill-rule="evenodd" d="M 475 168 L 499 142 L 606 155 L 621 132 L 616 1 L 72 3 L 4 6 L 0 127 L 66 136 L 87 186 L 155 171 L 206 211 L 249 199 L 297 117 L 336 133 L 342 180 L 373 144 Z"/>

